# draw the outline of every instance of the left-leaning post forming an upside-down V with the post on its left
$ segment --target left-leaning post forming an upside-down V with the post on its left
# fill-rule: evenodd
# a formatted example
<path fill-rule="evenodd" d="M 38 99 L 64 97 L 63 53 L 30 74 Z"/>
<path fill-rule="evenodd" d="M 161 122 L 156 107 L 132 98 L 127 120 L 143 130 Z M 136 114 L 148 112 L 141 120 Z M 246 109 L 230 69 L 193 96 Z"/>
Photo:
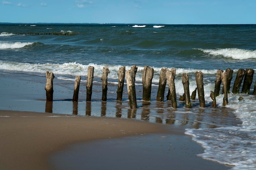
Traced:
<path fill-rule="evenodd" d="M 167 78 L 168 86 L 170 89 L 170 98 L 171 98 L 171 102 L 172 102 L 172 107 L 176 109 L 177 108 L 177 96 L 176 96 L 174 76 L 173 76 L 172 70 L 168 70 L 166 72 L 166 78 Z"/>

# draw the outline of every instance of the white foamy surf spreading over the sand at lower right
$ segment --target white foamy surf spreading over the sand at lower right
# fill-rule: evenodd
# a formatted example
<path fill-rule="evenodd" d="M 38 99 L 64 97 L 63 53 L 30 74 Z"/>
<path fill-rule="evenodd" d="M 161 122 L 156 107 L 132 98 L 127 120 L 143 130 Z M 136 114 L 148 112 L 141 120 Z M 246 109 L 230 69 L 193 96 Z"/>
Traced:
<path fill-rule="evenodd" d="M 256 96 L 248 94 L 229 94 L 226 107 L 235 109 L 234 114 L 242 124 L 216 129 L 186 129 L 187 135 L 205 148 L 198 156 L 234 166 L 232 170 L 256 169 Z M 242 96 L 244 99 L 239 101 Z M 216 98 L 221 103 L 223 95 Z M 220 106 L 219 106 L 220 107 Z"/>

